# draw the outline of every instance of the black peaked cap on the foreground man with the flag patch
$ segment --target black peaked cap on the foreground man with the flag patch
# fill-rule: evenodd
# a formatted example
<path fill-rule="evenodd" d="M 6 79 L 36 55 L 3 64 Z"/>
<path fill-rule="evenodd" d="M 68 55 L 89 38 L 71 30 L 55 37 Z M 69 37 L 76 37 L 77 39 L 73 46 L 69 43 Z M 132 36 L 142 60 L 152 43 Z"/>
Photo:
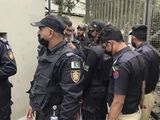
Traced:
<path fill-rule="evenodd" d="M 61 22 L 61 20 L 59 20 L 56 16 L 53 15 L 46 16 L 41 21 L 33 22 L 31 23 L 31 25 L 35 27 L 49 27 L 61 34 L 64 33 L 65 29 L 65 25 L 63 24 L 63 22 Z"/>

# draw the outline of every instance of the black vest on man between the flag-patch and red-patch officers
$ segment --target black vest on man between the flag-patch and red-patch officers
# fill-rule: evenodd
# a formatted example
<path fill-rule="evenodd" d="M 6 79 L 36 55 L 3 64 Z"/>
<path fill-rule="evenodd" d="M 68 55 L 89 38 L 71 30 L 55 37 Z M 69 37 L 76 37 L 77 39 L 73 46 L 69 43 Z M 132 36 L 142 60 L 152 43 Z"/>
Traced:
<path fill-rule="evenodd" d="M 105 106 L 106 104 L 106 84 L 105 84 L 105 74 L 104 74 L 104 50 L 100 46 L 94 46 L 90 48 L 90 51 L 94 51 L 97 56 L 97 64 L 94 68 L 93 76 L 90 78 L 89 85 L 84 91 L 84 101 L 83 101 L 83 109 L 95 112 L 97 109 L 101 109 L 101 112 L 104 112 L 102 110 L 101 106 Z M 97 103 L 97 101 L 99 101 Z M 103 107 L 104 108 L 104 107 Z"/>

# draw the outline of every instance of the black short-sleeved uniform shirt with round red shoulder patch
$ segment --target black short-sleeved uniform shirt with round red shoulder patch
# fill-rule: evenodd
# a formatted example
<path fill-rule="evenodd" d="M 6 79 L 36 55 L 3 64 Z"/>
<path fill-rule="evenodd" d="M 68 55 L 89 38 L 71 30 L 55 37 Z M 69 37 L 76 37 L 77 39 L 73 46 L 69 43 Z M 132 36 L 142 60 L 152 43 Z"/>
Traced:
<path fill-rule="evenodd" d="M 142 97 L 142 81 L 145 65 L 143 57 L 129 47 L 123 48 L 114 55 L 114 63 L 110 74 L 108 102 L 112 104 L 114 94 L 125 95 L 123 114 L 138 111 Z"/>

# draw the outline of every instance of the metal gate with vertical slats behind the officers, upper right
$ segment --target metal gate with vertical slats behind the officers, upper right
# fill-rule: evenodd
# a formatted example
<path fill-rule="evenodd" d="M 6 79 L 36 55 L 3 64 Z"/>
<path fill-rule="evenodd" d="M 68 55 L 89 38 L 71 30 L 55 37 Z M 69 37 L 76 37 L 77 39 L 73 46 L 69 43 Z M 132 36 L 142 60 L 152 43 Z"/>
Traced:
<path fill-rule="evenodd" d="M 148 41 L 160 51 L 160 0 L 86 0 L 86 20 L 111 22 L 124 32 L 135 24 L 148 26 Z"/>

